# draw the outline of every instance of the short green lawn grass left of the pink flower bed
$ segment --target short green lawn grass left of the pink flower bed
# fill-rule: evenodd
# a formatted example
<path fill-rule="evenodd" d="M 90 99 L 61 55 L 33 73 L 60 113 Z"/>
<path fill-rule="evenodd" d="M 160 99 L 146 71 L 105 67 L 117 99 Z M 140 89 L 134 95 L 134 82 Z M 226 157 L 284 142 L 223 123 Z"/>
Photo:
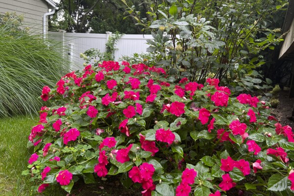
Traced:
<path fill-rule="evenodd" d="M 27 137 L 31 126 L 37 121 L 37 118 L 30 116 L 0 118 L 0 196 L 40 196 L 30 192 L 32 183 L 29 177 L 21 175 L 27 169 L 27 161 L 32 153 L 27 149 Z M 49 189 L 45 194 L 66 195 L 59 189 Z"/>

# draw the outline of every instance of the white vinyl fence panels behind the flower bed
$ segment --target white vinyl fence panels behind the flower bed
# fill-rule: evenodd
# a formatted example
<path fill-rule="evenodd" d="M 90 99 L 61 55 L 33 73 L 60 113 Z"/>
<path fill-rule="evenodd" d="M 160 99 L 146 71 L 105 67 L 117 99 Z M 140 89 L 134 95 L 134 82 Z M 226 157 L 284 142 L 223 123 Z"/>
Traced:
<path fill-rule="evenodd" d="M 84 60 L 80 58 L 80 53 L 88 49 L 94 48 L 101 52 L 105 52 L 105 44 L 111 32 L 106 34 L 97 33 L 68 33 L 61 32 L 48 32 L 49 39 L 61 41 L 64 48 L 68 48 L 67 55 L 72 62 L 72 69 L 81 69 Z M 117 50 L 114 53 L 115 60 L 121 56 L 131 56 L 134 53 L 146 53 L 149 47 L 146 43 L 147 39 L 153 39 L 152 35 L 123 35 L 118 39 L 114 46 Z"/>

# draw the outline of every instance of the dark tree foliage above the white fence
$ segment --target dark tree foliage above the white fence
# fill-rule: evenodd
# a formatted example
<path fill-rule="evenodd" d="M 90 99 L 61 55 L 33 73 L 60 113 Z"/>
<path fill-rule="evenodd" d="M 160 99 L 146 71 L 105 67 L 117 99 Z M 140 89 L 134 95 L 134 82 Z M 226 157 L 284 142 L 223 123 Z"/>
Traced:
<path fill-rule="evenodd" d="M 127 3 L 139 7 L 142 13 L 139 13 L 140 17 L 146 17 L 145 13 L 149 9 L 143 0 L 128 0 Z M 50 30 L 64 29 L 68 32 L 81 33 L 106 31 L 141 33 L 141 28 L 135 26 L 134 18 L 124 19 L 127 7 L 121 0 L 60 0 L 58 6 L 59 9 L 50 20 Z"/>

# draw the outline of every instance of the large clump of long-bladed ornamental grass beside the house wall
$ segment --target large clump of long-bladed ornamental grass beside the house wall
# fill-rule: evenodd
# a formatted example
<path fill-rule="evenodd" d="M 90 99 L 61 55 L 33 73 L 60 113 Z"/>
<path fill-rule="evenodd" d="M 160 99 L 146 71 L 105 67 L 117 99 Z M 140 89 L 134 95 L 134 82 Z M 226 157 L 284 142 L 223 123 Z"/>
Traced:
<path fill-rule="evenodd" d="M 19 18 L 0 21 L 0 116 L 34 113 L 42 105 L 40 90 L 56 83 L 67 62 L 41 36 L 16 30 Z"/>

